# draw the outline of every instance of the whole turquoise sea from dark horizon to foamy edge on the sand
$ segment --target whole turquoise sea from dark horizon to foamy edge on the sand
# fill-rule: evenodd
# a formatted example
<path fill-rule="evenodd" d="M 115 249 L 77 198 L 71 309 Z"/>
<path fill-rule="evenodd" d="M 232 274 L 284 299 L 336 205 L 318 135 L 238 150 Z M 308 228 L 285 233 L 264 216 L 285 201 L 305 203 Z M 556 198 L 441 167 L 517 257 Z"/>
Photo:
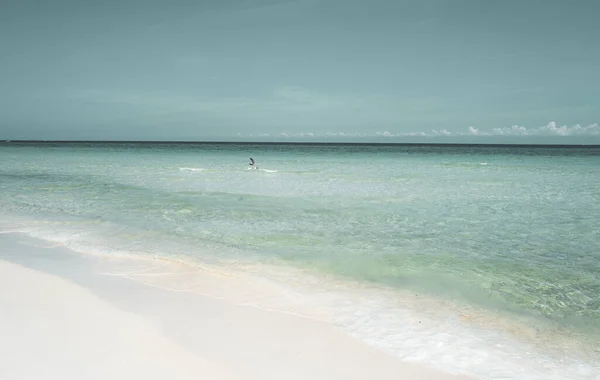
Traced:
<path fill-rule="evenodd" d="M 251 268 L 444 371 L 600 379 L 598 146 L 7 142 L 9 230 Z"/>

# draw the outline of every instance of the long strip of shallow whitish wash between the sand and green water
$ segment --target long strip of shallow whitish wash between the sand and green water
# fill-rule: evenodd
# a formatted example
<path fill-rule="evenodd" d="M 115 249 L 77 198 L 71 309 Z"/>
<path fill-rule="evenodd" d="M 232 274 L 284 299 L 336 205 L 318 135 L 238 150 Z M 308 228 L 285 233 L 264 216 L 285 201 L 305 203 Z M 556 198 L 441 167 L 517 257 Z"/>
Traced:
<path fill-rule="evenodd" d="M 100 267 L 92 268 L 95 275 L 106 277 L 108 274 L 141 286 L 192 293 L 328 323 L 346 336 L 396 360 L 441 373 L 531 380 L 595 380 L 600 373 L 600 367 L 594 364 L 597 361 L 592 357 L 588 360 L 586 356 L 593 350 L 579 352 L 581 342 L 571 341 L 573 337 L 558 330 L 540 335 L 535 325 L 503 319 L 468 305 L 459 307 L 450 300 L 322 278 L 292 267 L 235 261 L 213 263 L 168 254 L 146 256 L 121 251 L 116 246 L 99 249 L 83 241 L 72 244 L 67 236 L 55 239 L 32 234 L 23 227 L 25 225 L 13 225 L 4 233 L 0 231 L 0 239 L 22 236 L 30 245 L 37 242 L 33 245 L 44 249 L 30 251 L 29 254 L 37 258 L 25 260 L 24 264 L 41 264 L 37 269 L 53 270 L 70 280 L 77 280 L 77 276 L 72 271 L 53 268 L 56 266 L 54 256 L 43 254 L 44 251 L 57 249 L 57 257 L 73 259 L 70 265 L 87 263 L 83 273 L 90 272 L 89 265 L 95 263 Z M 2 240 L 0 247 L 1 244 Z M 40 259 L 45 261 L 40 263 Z M 60 261 L 58 263 L 60 265 Z M 165 268 L 170 268 L 170 273 Z M 86 281 L 89 282 L 89 278 L 83 281 L 89 286 Z M 572 352 L 563 352 L 564 349 Z"/>

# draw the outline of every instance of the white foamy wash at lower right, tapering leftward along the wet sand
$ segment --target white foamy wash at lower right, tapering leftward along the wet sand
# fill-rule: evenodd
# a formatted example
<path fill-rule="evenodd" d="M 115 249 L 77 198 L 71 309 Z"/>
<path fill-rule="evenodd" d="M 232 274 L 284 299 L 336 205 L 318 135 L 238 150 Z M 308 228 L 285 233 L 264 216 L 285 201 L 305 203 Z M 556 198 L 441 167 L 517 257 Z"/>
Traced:
<path fill-rule="evenodd" d="M 539 331 L 483 310 L 281 267 L 259 265 L 256 274 L 293 286 L 296 299 L 318 300 L 341 329 L 406 361 L 486 379 L 600 378 L 593 363 L 545 352 L 530 339 Z"/>

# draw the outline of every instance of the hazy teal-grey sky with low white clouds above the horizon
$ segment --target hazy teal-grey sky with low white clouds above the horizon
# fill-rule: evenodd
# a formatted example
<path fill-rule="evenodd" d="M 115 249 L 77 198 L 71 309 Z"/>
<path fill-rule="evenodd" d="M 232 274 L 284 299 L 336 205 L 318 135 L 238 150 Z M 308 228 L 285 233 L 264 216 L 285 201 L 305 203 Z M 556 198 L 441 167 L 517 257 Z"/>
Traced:
<path fill-rule="evenodd" d="M 2 0 L 0 139 L 600 144 L 595 0 Z"/>

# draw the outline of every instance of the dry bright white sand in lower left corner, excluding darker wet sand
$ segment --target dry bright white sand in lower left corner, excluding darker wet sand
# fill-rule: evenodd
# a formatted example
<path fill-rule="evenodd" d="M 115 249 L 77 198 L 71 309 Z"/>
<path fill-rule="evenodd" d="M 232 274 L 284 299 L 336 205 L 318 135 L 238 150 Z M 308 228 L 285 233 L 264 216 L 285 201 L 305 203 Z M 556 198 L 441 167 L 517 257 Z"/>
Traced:
<path fill-rule="evenodd" d="M 0 378 L 233 379 L 58 277 L 0 262 Z"/>

